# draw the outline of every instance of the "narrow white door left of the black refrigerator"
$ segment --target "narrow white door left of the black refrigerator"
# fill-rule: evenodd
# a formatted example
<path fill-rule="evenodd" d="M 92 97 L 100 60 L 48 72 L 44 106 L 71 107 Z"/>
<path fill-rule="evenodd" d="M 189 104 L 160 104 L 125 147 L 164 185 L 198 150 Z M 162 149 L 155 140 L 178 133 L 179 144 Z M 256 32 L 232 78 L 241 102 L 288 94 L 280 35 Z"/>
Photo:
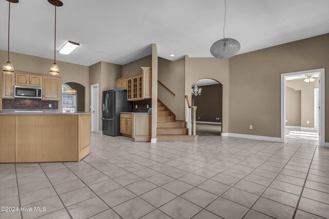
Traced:
<path fill-rule="evenodd" d="M 90 85 L 90 111 L 92 112 L 92 132 L 99 132 L 99 87 Z"/>

